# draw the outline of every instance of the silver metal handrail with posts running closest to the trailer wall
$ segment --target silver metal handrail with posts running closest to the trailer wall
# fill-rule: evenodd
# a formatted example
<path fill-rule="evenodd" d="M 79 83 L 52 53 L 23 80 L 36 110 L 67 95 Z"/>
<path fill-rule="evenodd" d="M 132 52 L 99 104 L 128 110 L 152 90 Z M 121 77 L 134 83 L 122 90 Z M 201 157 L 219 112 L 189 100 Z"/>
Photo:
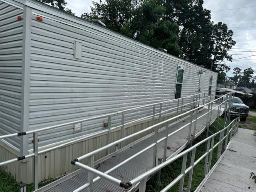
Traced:
<path fill-rule="evenodd" d="M 200 95 L 202 93 L 203 93 L 203 98 L 200 99 Z M 159 120 L 160 120 L 161 115 L 163 113 L 166 113 L 167 111 L 177 109 L 176 113 L 178 114 L 178 111 L 179 111 L 180 107 L 181 107 L 181 113 L 182 113 L 182 109 L 186 105 L 192 104 L 192 107 L 194 107 L 195 103 L 200 102 L 201 100 L 203 100 L 203 103 L 204 103 L 204 101 L 205 101 L 205 92 L 202 92 L 202 93 L 197 93 L 197 94 L 194 94 L 194 95 L 189 95 L 189 96 L 181 97 L 181 98 L 178 98 L 178 99 L 171 99 L 171 100 L 162 101 L 162 102 L 158 102 L 158 103 L 142 105 L 142 106 L 134 107 L 134 108 L 131 108 L 131 109 L 125 109 L 125 110 L 114 112 L 114 113 L 108 113 L 106 115 L 100 115 L 100 116 L 90 117 L 90 118 L 86 118 L 86 119 L 82 119 L 82 120 L 77 120 L 77 121 L 72 121 L 72 122 L 68 122 L 68 123 L 62 123 L 62 124 L 59 124 L 59 125 L 54 125 L 54 126 L 50 126 L 50 127 L 40 128 L 40 129 L 36 129 L 36 130 L 32 130 L 32 131 L 18 132 L 18 133 L 12 133 L 12 134 L 8 134 L 8 135 L 2 135 L 2 136 L 0 136 L 0 139 L 6 139 L 6 138 L 11 138 L 11 137 L 17 137 L 17 136 L 20 137 L 20 136 L 24 136 L 24 135 L 28 135 L 28 134 L 32 134 L 33 133 L 34 152 L 32 154 L 27 154 L 27 155 L 24 155 L 24 156 L 20 156 L 18 158 L 13 158 L 13 159 L 10 159 L 10 160 L 6 160 L 4 162 L 0 162 L 0 166 L 6 165 L 6 164 L 10 164 L 12 162 L 17 162 L 17 161 L 20 161 L 20 160 L 23 160 L 23 159 L 26 159 L 26 158 L 31 158 L 31 157 L 34 156 L 34 190 L 36 190 L 38 188 L 38 176 L 37 176 L 37 174 L 38 174 L 38 155 L 39 154 L 42 154 L 42 153 L 45 153 L 45 152 L 49 152 L 51 150 L 55 150 L 55 149 L 58 149 L 58 148 L 61 148 L 61 147 L 64 147 L 64 146 L 67 146 L 67 145 L 70 145 L 70 144 L 74 144 L 76 142 L 83 141 L 84 139 L 87 139 L 89 137 L 97 136 L 97 135 L 104 134 L 104 133 L 108 134 L 108 143 L 110 143 L 110 132 L 113 129 L 121 127 L 121 136 L 120 137 L 123 138 L 123 130 L 124 130 L 124 126 L 125 125 L 128 125 L 130 123 L 135 123 L 137 121 L 141 121 L 142 119 L 146 119 L 146 118 L 149 118 L 149 117 L 152 117 L 152 123 L 154 123 L 154 117 L 156 115 L 159 115 Z M 199 97 L 199 99 L 195 100 L 195 96 Z M 189 98 L 189 97 L 193 97 L 193 101 L 190 102 L 190 103 L 185 103 L 184 104 L 184 99 Z M 182 105 L 179 105 L 179 101 L 180 100 L 182 100 Z M 162 111 L 162 104 L 163 103 L 168 103 L 168 102 L 171 102 L 171 101 L 178 101 L 178 106 L 177 107 L 172 107 L 172 108 L 170 108 L 170 109 L 168 109 L 166 111 Z M 160 112 L 159 113 L 155 113 L 155 108 L 156 108 L 156 105 L 158 105 L 158 104 L 160 104 Z M 149 106 L 153 106 L 154 107 L 153 108 L 153 115 L 149 115 L 147 117 L 143 117 L 143 118 L 140 118 L 140 119 L 136 119 L 134 121 L 130 121 L 128 123 L 124 123 L 124 112 L 132 111 L 132 110 L 135 110 L 135 109 L 140 109 L 140 108 L 143 108 L 143 107 L 149 107 Z M 116 126 L 116 127 L 111 127 L 111 124 L 110 124 L 110 122 L 111 122 L 111 115 L 118 115 L 118 114 L 122 114 L 122 121 L 121 121 L 122 125 L 119 125 L 119 126 Z M 62 126 L 65 126 L 65 125 L 71 125 L 71 124 L 75 124 L 75 123 L 82 123 L 84 121 L 90 121 L 90 120 L 99 119 L 99 118 L 102 118 L 102 117 L 108 117 L 108 123 L 109 123 L 108 129 L 105 129 L 105 130 L 102 130 L 102 131 L 98 131 L 96 133 L 88 134 L 85 137 L 80 137 L 79 139 L 75 139 L 73 141 L 69 141 L 69 142 L 66 142 L 66 143 L 63 143 L 63 144 L 59 144 L 59 145 L 51 147 L 51 148 L 47 148 L 45 150 L 38 151 L 38 132 L 46 131 L 46 130 L 49 130 L 49 129 L 54 129 L 54 128 L 57 128 L 57 127 L 62 127 Z M 120 147 L 122 147 L 122 145 Z M 108 150 L 107 154 L 109 154 L 109 150 Z"/>

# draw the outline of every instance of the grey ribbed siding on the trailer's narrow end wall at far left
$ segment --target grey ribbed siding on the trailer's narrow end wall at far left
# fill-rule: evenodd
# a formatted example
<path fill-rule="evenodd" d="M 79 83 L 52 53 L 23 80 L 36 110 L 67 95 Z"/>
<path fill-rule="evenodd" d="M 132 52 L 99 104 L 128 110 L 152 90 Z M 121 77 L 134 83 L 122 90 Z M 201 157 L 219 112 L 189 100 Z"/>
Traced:
<path fill-rule="evenodd" d="M 20 131 L 23 10 L 0 1 L 0 135 Z M 19 146 L 19 138 L 7 139 Z"/>

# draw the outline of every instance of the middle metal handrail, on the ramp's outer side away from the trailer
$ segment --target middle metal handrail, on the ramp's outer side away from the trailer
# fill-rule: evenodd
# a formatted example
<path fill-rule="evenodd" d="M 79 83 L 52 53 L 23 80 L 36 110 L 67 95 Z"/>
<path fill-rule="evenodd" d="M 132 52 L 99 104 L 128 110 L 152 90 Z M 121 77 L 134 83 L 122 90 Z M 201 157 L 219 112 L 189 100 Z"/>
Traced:
<path fill-rule="evenodd" d="M 226 96 L 229 96 L 230 98 L 229 98 L 229 99 L 226 99 L 226 100 L 223 101 L 223 102 L 221 102 L 221 101 L 222 101 L 222 98 L 223 98 L 223 97 L 226 97 Z M 218 115 L 220 115 L 220 113 L 219 113 L 220 106 L 221 106 L 223 103 L 225 103 L 225 102 L 226 102 L 226 105 L 227 105 L 227 103 L 228 103 L 229 100 L 232 101 L 232 96 L 233 96 L 233 93 L 228 93 L 228 94 L 226 94 L 226 95 L 223 95 L 221 98 L 215 99 L 214 101 L 211 101 L 211 102 L 209 102 L 209 103 L 207 103 L 207 104 L 204 104 L 204 105 L 200 106 L 200 107 L 203 107 L 203 106 L 208 105 L 208 112 L 206 112 L 206 113 L 204 114 L 204 115 L 208 115 L 207 121 L 209 121 L 209 115 L 210 115 L 210 119 L 211 119 L 212 110 L 214 110 L 214 109 L 216 108 L 216 107 L 215 107 L 214 109 L 212 109 L 212 103 L 215 102 L 215 101 L 217 101 L 217 100 L 219 100 L 219 102 L 218 102 L 219 105 L 218 105 L 217 107 L 218 107 Z M 231 101 L 230 101 L 229 103 L 231 103 Z M 210 110 L 210 104 L 211 104 L 211 110 Z M 225 110 L 226 110 L 226 105 L 225 105 Z M 196 107 L 195 109 L 192 109 L 192 110 L 190 110 L 190 111 L 187 111 L 187 112 L 185 112 L 185 113 L 183 113 L 183 114 L 181 114 L 181 115 L 184 115 L 184 114 L 186 114 L 186 113 L 191 113 L 191 112 L 193 112 L 193 111 L 195 111 L 195 110 L 196 110 L 196 112 L 197 112 L 200 107 Z M 225 113 L 226 113 L 226 111 L 225 111 Z M 102 150 L 106 150 L 106 149 L 108 149 L 108 148 L 110 148 L 110 147 L 112 147 L 112 146 L 115 146 L 116 144 L 122 143 L 122 142 L 125 141 L 126 139 L 130 139 L 131 137 L 134 137 L 134 136 L 136 136 L 136 135 L 138 135 L 138 134 L 140 134 L 140 133 L 143 133 L 144 131 L 148 131 L 148 130 L 150 130 L 150 129 L 153 129 L 154 127 L 157 127 L 157 130 L 158 130 L 159 126 L 160 126 L 160 125 L 163 125 L 164 123 L 166 124 L 166 130 L 167 130 L 167 129 L 168 129 L 168 125 L 169 125 L 168 122 L 171 121 L 171 120 L 173 120 L 173 119 L 176 119 L 177 117 L 180 117 L 181 115 L 177 115 L 177 116 L 172 117 L 172 118 L 170 118 L 170 119 L 168 119 L 168 120 L 166 120 L 166 121 L 162 121 L 161 123 L 158 123 L 158 124 L 156 124 L 156 125 L 152 125 L 152 126 L 146 128 L 146 129 L 142 130 L 142 131 L 138 131 L 138 132 L 136 132 L 136 133 L 134 133 L 134 134 L 132 134 L 132 135 L 129 135 L 129 136 L 124 137 L 124 138 L 122 138 L 122 139 L 120 139 L 120 140 L 118 140 L 118 141 L 115 141 L 115 142 L 110 143 L 110 144 L 108 144 L 108 145 L 106 145 L 106 146 L 103 146 L 102 148 L 96 149 L 96 150 L 94 150 L 94 151 L 92 151 L 92 152 L 90 152 L 90 153 L 88 153 L 88 154 L 85 154 L 85 155 L 83 155 L 83 156 L 80 156 L 80 157 L 76 158 L 75 160 L 73 160 L 73 161 L 72 161 L 72 164 L 73 164 L 73 165 L 76 165 L 76 162 L 81 161 L 81 160 L 83 160 L 83 159 L 85 159 L 85 158 L 89 158 L 89 157 L 91 158 L 91 161 L 92 161 L 92 159 L 94 158 L 94 155 L 95 155 L 96 153 L 101 152 Z M 186 127 L 186 126 L 188 126 L 188 125 L 192 125 L 192 123 L 193 123 L 194 121 L 197 121 L 198 119 L 202 118 L 204 115 L 201 115 L 200 117 L 196 118 L 196 119 L 193 120 L 193 121 L 192 121 L 192 119 L 191 119 L 191 122 L 190 122 L 190 123 L 188 123 L 188 124 L 186 124 L 186 125 L 180 127 L 178 130 L 176 130 L 176 131 L 170 133 L 170 134 L 167 135 L 166 137 L 163 137 L 163 138 L 159 139 L 159 140 L 156 141 L 155 143 L 152 143 L 152 144 L 151 144 L 150 146 L 148 146 L 146 149 L 144 149 L 144 150 L 138 152 L 137 154 L 131 156 L 131 157 L 129 158 L 129 160 L 132 160 L 133 158 L 135 158 L 136 156 L 138 156 L 138 155 L 141 154 L 142 152 L 145 152 L 146 150 L 148 150 L 148 149 L 150 149 L 150 148 L 156 146 L 157 143 L 159 143 L 159 142 L 161 142 L 161 141 L 163 141 L 163 140 L 166 140 L 168 137 L 170 137 L 170 136 L 173 135 L 174 133 L 177 133 L 178 131 L 184 129 L 184 127 Z M 209 122 L 208 122 L 208 125 L 209 125 Z M 191 128 L 191 127 L 190 127 L 190 128 Z M 195 129 L 195 128 L 194 128 L 194 129 Z M 157 132 L 158 132 L 157 130 L 155 131 L 155 135 L 156 135 Z M 190 130 L 190 131 L 191 131 L 191 130 Z M 195 134 L 195 133 L 194 133 L 194 134 Z M 190 133 L 189 133 L 189 135 L 190 135 Z M 190 136 L 189 136 L 189 137 L 190 137 Z M 188 141 L 189 141 L 189 139 L 188 139 Z M 166 147 L 165 147 L 165 148 L 166 148 Z M 166 154 L 165 154 L 165 156 L 166 156 Z M 155 158 L 155 157 L 153 157 L 153 158 Z M 165 157 L 165 158 L 166 158 L 166 157 Z M 126 160 L 125 162 L 122 162 L 122 163 L 120 163 L 120 164 L 114 166 L 111 170 L 106 171 L 105 174 L 108 174 L 108 173 L 114 171 L 115 169 L 117 169 L 118 167 L 122 166 L 123 164 L 125 164 L 125 163 L 128 162 L 129 160 Z M 86 169 L 88 166 L 84 165 L 83 167 L 81 167 L 81 166 L 79 166 L 79 167 Z M 93 164 L 91 164 L 91 168 L 93 168 Z M 87 170 L 87 169 L 86 169 L 86 170 Z M 89 171 L 89 172 L 88 172 L 88 175 L 90 175 L 90 174 L 91 174 L 91 173 L 90 173 L 90 171 Z M 92 176 L 91 176 L 91 177 L 92 177 Z M 88 178 L 89 178 L 89 177 L 88 177 Z M 98 180 L 100 180 L 100 177 L 96 177 L 95 179 L 90 180 L 90 182 L 88 182 L 88 183 L 84 184 L 83 186 L 81 186 L 80 188 L 74 190 L 74 192 L 79 192 L 79 191 L 81 191 L 81 190 L 87 188 L 88 186 L 92 185 L 94 182 L 96 182 L 96 181 L 98 181 Z M 129 182 L 128 182 L 127 184 L 128 184 L 128 186 L 131 185 L 131 183 L 129 183 Z M 126 186 L 126 187 L 127 187 L 127 186 Z"/>

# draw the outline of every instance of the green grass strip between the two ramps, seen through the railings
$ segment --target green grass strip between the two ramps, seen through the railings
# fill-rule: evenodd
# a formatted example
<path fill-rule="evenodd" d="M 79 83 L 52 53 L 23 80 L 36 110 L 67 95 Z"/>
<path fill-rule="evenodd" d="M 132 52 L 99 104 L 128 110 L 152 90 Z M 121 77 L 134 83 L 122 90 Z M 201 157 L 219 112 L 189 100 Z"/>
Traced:
<path fill-rule="evenodd" d="M 224 118 L 222 118 L 222 121 L 224 122 Z M 219 121 L 222 125 L 222 121 Z M 217 122 L 214 122 L 214 126 L 210 127 L 210 132 L 211 133 L 216 133 L 217 129 L 216 129 L 216 125 Z M 221 126 L 219 125 L 219 129 L 222 129 Z M 217 135 L 214 139 L 214 144 L 216 144 L 218 142 L 218 137 L 219 135 Z M 206 131 L 204 133 L 202 133 L 199 137 L 197 137 L 194 141 L 193 144 L 196 144 L 200 141 L 202 141 L 203 139 L 206 138 Z M 204 154 L 204 150 L 205 150 L 205 144 L 201 144 L 200 146 L 198 146 L 196 148 L 196 157 L 195 157 L 195 161 L 200 158 L 200 156 L 202 156 Z M 218 147 L 214 148 L 213 153 L 212 153 L 212 162 L 211 162 L 211 168 L 212 166 L 214 166 L 214 164 L 217 161 L 217 151 L 218 151 Z M 224 142 L 222 144 L 222 152 L 224 151 Z M 205 159 L 205 158 L 204 158 Z M 204 176 L 204 159 L 201 160 L 195 167 L 193 170 L 193 177 L 192 177 L 192 186 L 191 186 L 191 192 L 193 192 L 194 190 L 196 190 L 196 188 L 198 187 L 198 185 L 202 182 Z M 188 168 L 189 162 L 187 161 L 187 168 Z M 170 182 L 172 182 L 177 176 L 180 175 L 181 173 L 181 166 L 182 166 L 182 158 L 177 159 L 176 161 L 172 162 L 170 165 L 164 167 L 162 169 L 161 172 L 161 183 L 157 183 L 156 182 L 156 176 L 153 176 L 147 183 L 147 190 L 146 192 L 157 192 L 158 190 L 156 189 L 156 186 L 159 185 L 160 186 L 160 190 L 162 190 L 165 186 L 167 186 Z M 184 187 L 187 188 L 187 183 L 188 183 L 188 173 L 185 176 L 184 179 Z M 177 182 L 172 188 L 170 188 L 170 190 L 168 190 L 168 192 L 177 192 L 179 191 L 179 184 L 180 182 Z"/>

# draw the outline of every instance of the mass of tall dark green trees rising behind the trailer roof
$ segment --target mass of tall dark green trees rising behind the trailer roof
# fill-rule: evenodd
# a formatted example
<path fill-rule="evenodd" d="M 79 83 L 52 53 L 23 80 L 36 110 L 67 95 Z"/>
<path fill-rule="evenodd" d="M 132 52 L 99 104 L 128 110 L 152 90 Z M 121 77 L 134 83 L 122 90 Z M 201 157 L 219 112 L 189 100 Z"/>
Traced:
<path fill-rule="evenodd" d="M 214 24 L 203 0 L 106 0 L 93 2 L 82 18 L 220 73 L 230 68 L 228 49 L 236 42 L 222 22 Z M 221 75 L 223 78 L 225 75 Z M 223 80 L 222 78 L 222 80 Z M 220 81 L 222 81 L 220 79 Z"/>

